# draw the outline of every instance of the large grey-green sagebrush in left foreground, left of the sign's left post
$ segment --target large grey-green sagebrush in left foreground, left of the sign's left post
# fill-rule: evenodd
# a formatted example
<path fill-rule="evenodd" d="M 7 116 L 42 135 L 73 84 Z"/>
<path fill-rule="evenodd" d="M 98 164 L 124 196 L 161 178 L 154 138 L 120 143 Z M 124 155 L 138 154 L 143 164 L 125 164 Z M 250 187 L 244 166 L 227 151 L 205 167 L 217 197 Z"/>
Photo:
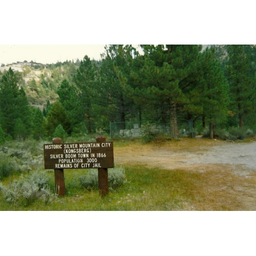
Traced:
<path fill-rule="evenodd" d="M 7 202 L 29 205 L 35 200 L 46 203 L 55 198 L 48 188 L 49 177 L 44 174 L 33 173 L 28 177 L 14 180 L 9 188 L 0 183 L 0 190 Z"/>

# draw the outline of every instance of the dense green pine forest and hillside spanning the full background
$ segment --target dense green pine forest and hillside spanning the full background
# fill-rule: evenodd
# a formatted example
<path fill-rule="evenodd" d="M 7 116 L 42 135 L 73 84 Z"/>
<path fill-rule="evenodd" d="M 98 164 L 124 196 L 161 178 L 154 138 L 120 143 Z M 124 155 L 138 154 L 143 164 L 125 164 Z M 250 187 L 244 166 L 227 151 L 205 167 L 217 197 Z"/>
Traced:
<path fill-rule="evenodd" d="M 174 139 L 256 134 L 255 45 L 106 45 L 101 60 L 21 67 L 0 71 L 0 144 L 108 134 L 110 122 L 164 124 Z"/>

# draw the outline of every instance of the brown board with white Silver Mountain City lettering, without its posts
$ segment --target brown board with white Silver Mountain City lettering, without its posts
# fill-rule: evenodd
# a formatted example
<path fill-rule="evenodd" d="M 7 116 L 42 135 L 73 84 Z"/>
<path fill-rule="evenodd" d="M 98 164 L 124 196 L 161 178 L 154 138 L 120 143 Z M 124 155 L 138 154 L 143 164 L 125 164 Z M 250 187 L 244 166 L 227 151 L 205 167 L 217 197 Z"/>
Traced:
<path fill-rule="evenodd" d="M 113 168 L 113 142 L 44 144 L 45 169 Z"/>

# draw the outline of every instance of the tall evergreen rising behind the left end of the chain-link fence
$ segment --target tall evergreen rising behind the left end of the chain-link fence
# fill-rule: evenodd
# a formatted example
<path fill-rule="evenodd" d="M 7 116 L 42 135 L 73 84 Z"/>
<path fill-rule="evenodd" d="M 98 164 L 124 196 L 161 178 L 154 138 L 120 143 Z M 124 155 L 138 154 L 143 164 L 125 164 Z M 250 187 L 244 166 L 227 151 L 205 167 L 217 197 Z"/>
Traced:
<path fill-rule="evenodd" d="M 105 47 L 100 67 L 101 87 L 109 120 L 124 122 L 131 115 L 133 100 L 127 91 L 130 75 L 130 62 L 133 48 L 130 45 L 110 45 Z"/>

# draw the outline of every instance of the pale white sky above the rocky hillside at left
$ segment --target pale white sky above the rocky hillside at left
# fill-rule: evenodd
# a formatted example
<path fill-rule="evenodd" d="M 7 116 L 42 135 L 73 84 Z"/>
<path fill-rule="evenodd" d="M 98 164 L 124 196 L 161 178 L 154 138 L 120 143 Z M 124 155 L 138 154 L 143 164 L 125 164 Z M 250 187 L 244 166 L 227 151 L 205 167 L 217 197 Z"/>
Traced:
<path fill-rule="evenodd" d="M 103 52 L 104 45 L 0 45 L 0 64 L 24 60 L 44 64 L 76 61 L 85 55 L 99 60 Z"/>

